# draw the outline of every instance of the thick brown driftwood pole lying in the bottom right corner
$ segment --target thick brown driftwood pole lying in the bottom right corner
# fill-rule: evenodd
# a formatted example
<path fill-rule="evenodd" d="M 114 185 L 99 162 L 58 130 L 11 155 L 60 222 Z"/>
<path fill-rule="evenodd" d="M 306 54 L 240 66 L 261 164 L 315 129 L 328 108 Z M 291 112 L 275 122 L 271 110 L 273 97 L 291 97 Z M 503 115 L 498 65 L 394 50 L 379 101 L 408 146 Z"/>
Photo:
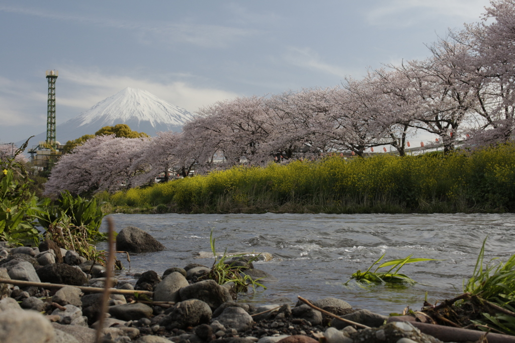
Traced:
<path fill-rule="evenodd" d="M 405 316 L 388 318 L 388 322 L 392 321 L 409 321 L 411 325 L 419 329 L 422 333 L 438 338 L 444 342 L 474 342 L 478 341 L 485 335 L 485 332 L 483 331 L 444 327 L 443 325 L 434 325 L 410 321 L 406 320 Z M 486 339 L 488 339 L 488 343 L 515 343 L 515 336 L 496 333 L 487 333 Z"/>

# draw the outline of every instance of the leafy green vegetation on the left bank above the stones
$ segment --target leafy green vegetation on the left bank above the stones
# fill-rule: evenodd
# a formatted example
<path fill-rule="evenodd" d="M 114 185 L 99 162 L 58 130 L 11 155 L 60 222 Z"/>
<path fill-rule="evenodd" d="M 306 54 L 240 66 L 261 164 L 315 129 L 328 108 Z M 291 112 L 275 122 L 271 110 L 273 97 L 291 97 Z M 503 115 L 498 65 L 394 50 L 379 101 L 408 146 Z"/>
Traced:
<path fill-rule="evenodd" d="M 97 255 L 91 243 L 104 239 L 99 232 L 104 214 L 96 199 L 39 198 L 26 161 L 20 158 L 28 141 L 12 155 L 0 155 L 0 240 L 10 245 L 35 245 L 54 239 L 86 257 Z M 42 230 L 39 230 L 42 229 Z"/>

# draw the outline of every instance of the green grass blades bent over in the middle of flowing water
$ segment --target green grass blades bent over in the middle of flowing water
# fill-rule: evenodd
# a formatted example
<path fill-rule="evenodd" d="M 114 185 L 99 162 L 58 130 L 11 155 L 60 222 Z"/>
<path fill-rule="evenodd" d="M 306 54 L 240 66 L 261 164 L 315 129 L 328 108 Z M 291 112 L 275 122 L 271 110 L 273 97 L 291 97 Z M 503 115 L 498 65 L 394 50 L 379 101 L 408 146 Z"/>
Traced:
<path fill-rule="evenodd" d="M 370 267 L 365 272 L 362 272 L 361 270 L 356 271 L 351 275 L 351 279 L 348 280 L 345 285 L 349 283 L 351 280 L 356 280 L 357 282 L 363 282 L 363 283 L 375 283 L 375 284 L 399 284 L 399 283 L 408 283 L 408 284 L 415 284 L 416 281 L 407 277 L 404 274 L 399 273 L 399 270 L 406 264 L 406 263 L 414 263 L 414 262 L 422 262 L 422 261 L 437 261 L 434 259 L 413 259 L 409 255 L 407 258 L 404 259 L 397 259 L 397 260 L 391 260 L 382 263 L 379 265 L 379 267 L 375 268 L 375 270 L 372 272 L 370 269 L 377 263 L 381 262 L 383 260 L 385 254 L 383 254 L 379 260 L 372 263 Z M 384 267 L 390 267 L 388 271 L 386 272 L 378 272 L 380 268 Z"/>

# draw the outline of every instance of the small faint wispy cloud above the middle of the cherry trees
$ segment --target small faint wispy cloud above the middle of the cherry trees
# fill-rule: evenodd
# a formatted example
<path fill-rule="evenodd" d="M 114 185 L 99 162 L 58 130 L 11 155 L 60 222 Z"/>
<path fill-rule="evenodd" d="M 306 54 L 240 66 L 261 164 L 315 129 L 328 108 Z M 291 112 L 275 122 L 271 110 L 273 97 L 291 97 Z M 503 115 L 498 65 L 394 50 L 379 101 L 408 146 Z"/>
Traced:
<path fill-rule="evenodd" d="M 350 70 L 323 62 L 319 54 L 308 47 L 300 48 L 289 46 L 286 48 L 286 53 L 283 57 L 290 64 L 335 75 L 340 78 L 344 78 L 350 74 Z"/>

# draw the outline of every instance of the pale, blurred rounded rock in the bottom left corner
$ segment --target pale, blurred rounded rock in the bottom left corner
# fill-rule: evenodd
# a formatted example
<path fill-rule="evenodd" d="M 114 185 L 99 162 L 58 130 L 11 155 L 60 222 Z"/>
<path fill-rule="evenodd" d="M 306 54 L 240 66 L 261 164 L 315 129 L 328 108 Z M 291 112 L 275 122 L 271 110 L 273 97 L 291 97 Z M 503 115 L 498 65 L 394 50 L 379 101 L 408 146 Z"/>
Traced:
<path fill-rule="evenodd" d="M 0 342 L 54 342 L 52 324 L 36 311 L 7 310 L 0 312 Z"/>

